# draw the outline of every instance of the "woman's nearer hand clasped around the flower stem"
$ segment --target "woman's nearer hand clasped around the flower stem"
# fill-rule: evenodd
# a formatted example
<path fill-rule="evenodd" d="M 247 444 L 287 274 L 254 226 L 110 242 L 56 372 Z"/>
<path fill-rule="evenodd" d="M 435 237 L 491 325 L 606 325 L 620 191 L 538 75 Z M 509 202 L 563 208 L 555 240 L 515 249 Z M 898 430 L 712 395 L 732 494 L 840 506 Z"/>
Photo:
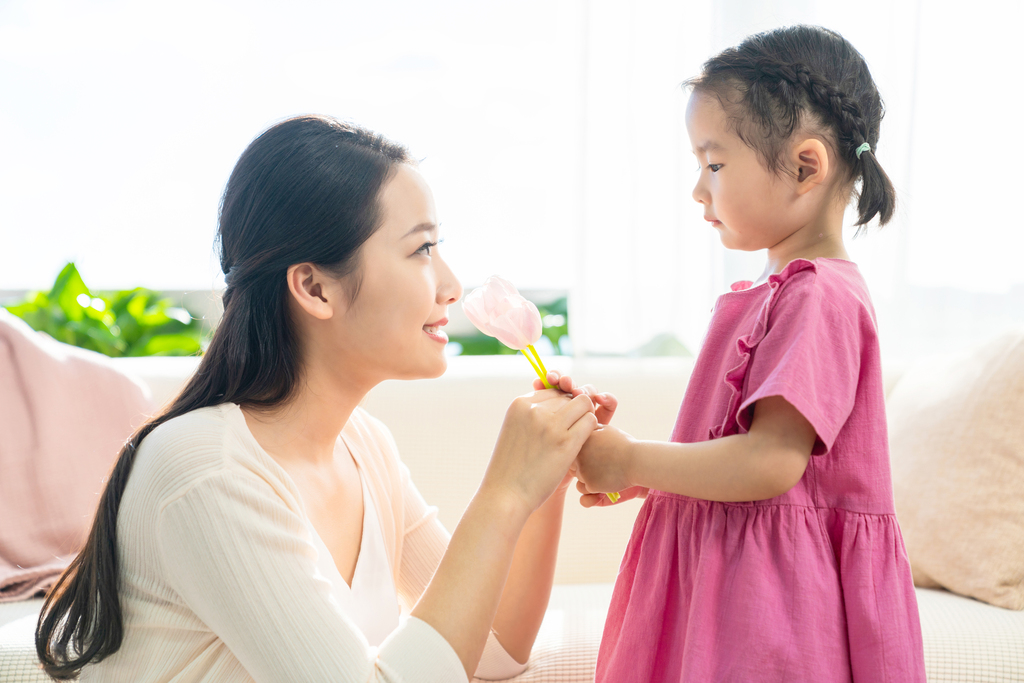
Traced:
<path fill-rule="evenodd" d="M 569 465 L 596 428 L 594 403 L 586 394 L 570 398 L 544 389 L 519 396 L 505 414 L 481 492 L 511 496 L 532 512 L 558 486 L 568 487 Z"/>

